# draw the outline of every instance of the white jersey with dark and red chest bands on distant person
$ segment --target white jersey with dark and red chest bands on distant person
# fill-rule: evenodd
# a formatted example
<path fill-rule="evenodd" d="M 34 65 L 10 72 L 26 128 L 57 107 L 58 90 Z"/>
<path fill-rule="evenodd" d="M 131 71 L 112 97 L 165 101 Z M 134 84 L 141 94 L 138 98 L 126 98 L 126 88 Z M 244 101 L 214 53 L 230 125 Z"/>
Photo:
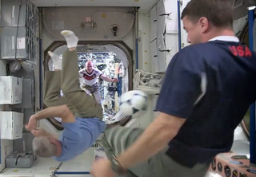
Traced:
<path fill-rule="evenodd" d="M 79 71 L 82 81 L 85 85 L 95 85 L 98 82 L 98 77 L 102 75 L 102 72 L 98 69 L 93 69 L 91 73 L 88 73 L 86 69 L 81 69 Z"/>

